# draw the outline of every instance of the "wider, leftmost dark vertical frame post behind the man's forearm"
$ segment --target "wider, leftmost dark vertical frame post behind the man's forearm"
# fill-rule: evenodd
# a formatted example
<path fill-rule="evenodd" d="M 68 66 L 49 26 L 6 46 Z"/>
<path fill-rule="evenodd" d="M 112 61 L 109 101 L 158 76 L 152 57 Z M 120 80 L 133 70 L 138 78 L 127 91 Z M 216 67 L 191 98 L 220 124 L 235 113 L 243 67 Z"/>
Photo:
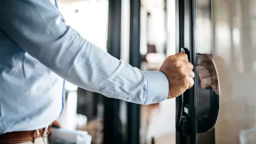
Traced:
<path fill-rule="evenodd" d="M 121 57 L 121 7 L 122 0 L 109 0 L 107 51 L 113 57 Z M 122 123 L 119 117 L 120 100 L 103 98 L 103 143 L 122 144 Z"/>

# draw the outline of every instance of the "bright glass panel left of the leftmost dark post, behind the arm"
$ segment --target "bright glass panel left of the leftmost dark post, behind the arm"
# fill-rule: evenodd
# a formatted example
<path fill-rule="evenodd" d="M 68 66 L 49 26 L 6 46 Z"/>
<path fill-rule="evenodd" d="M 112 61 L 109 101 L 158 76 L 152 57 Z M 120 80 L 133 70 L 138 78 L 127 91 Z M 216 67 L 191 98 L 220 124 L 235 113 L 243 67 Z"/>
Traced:
<path fill-rule="evenodd" d="M 108 1 L 58 1 L 67 25 L 85 39 L 107 50 Z M 66 106 L 59 118 L 62 127 L 88 131 L 93 143 L 102 142 L 102 95 L 66 82 Z"/>

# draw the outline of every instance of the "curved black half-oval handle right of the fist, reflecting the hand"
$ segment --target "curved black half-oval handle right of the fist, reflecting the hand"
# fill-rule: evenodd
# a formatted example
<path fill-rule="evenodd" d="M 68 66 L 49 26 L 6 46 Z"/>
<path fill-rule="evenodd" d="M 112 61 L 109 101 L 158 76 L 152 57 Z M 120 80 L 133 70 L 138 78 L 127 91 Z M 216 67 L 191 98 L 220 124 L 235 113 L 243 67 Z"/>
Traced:
<path fill-rule="evenodd" d="M 210 54 L 196 55 L 196 72 L 198 75 L 198 133 L 211 131 L 219 117 L 220 87 L 217 68 Z M 203 77 L 209 75 L 208 85 L 202 84 Z M 201 79 L 200 79 L 201 77 Z M 207 77 L 207 76 L 206 76 Z M 209 82 L 211 81 L 211 82 Z"/>

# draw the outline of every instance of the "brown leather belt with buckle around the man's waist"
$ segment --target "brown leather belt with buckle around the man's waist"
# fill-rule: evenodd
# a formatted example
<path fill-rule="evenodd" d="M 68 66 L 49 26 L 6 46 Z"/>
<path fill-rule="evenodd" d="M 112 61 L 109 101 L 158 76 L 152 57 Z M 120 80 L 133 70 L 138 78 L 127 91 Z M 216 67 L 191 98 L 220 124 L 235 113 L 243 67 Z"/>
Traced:
<path fill-rule="evenodd" d="M 35 131 L 21 131 L 21 132 L 9 132 L 0 135 L 0 143 L 22 143 L 34 141 L 36 138 L 45 137 L 50 134 L 50 127 L 45 131 L 44 129 L 39 129 Z M 46 134 L 46 135 L 44 135 Z"/>

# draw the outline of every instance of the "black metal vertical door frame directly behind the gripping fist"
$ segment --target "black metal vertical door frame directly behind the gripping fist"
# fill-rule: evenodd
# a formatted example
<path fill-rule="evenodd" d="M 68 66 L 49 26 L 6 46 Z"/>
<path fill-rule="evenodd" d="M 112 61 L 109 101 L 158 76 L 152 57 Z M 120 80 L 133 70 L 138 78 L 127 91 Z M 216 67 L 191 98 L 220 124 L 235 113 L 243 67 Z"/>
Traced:
<path fill-rule="evenodd" d="M 177 52 L 186 52 L 189 61 L 195 65 L 196 51 L 194 44 L 194 10 L 195 0 L 176 0 L 176 26 L 177 27 Z M 186 7 L 188 3 L 188 9 Z M 185 47 L 185 15 L 189 13 L 189 47 Z M 196 73 L 196 69 L 194 69 Z M 197 79 L 196 77 L 194 80 Z M 178 144 L 197 144 L 197 81 L 191 89 L 183 93 L 176 99 L 177 103 L 177 143 Z M 189 111 L 188 114 L 186 110 Z M 185 117 L 183 115 L 189 115 Z"/>

